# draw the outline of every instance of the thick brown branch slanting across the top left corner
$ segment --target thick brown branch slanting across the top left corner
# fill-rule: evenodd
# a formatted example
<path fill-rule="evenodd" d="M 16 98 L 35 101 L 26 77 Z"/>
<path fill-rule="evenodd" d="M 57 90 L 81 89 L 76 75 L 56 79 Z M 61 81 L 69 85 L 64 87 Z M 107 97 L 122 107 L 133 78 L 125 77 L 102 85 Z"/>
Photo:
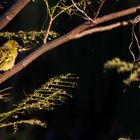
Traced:
<path fill-rule="evenodd" d="M 0 17 L 0 30 L 3 29 L 28 3 L 30 0 L 18 0 L 11 8 Z"/>

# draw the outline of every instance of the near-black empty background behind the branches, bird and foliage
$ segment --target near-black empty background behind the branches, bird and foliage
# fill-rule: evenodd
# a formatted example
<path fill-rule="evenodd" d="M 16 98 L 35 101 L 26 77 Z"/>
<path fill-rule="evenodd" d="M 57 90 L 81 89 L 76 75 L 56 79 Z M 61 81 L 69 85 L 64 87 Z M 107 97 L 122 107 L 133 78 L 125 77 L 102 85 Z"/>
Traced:
<path fill-rule="evenodd" d="M 139 0 L 107 1 L 101 15 L 138 4 Z M 8 8 L 6 6 L 5 9 Z M 1 10 L 1 14 L 3 12 Z M 27 5 L 4 31 L 40 30 L 45 14 L 45 5 L 37 0 Z M 124 19 L 127 18 L 130 16 Z M 77 16 L 70 18 L 63 15 L 53 28 L 64 34 L 81 22 L 83 20 Z M 1 39 L 0 44 L 4 41 Z M 29 93 L 55 75 L 76 73 L 80 78 L 78 87 L 70 93 L 73 95 L 72 99 L 56 107 L 54 111 L 39 111 L 29 115 L 46 121 L 47 129 L 36 126 L 19 127 L 16 135 L 12 134 L 12 129 L 3 129 L 1 140 L 117 140 L 118 137 L 129 136 L 133 139 L 140 138 L 138 84 L 132 83 L 123 93 L 124 75 L 119 75 L 115 70 L 103 70 L 104 63 L 113 57 L 132 61 L 128 51 L 130 41 L 131 26 L 70 41 L 45 53 L 4 82 L 0 88 L 13 86 L 13 102 L 19 102 L 24 97 L 23 90 Z M 25 55 L 21 54 L 17 61 Z M 4 109 L 8 110 L 11 104 L 6 104 Z"/>

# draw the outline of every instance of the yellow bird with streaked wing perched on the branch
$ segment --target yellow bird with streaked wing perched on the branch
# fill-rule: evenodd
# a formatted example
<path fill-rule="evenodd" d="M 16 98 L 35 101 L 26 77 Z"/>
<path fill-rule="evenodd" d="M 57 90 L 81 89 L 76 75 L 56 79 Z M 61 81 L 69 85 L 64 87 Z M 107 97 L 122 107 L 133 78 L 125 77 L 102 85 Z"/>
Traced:
<path fill-rule="evenodd" d="M 8 40 L 0 47 L 0 71 L 12 69 L 20 48 L 15 40 Z"/>

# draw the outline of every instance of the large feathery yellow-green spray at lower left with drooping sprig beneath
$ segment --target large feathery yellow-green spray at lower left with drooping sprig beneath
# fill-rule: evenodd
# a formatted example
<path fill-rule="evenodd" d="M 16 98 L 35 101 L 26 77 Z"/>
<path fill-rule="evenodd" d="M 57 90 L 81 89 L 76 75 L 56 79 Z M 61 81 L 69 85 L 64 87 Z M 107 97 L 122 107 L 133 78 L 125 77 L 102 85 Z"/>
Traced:
<path fill-rule="evenodd" d="M 55 106 L 61 105 L 68 97 L 72 97 L 68 94 L 68 88 L 74 88 L 77 79 L 74 74 L 66 74 L 56 76 L 46 82 L 41 88 L 36 89 L 33 93 L 26 95 L 23 101 L 15 106 L 14 109 L 0 113 L 0 127 L 13 126 L 14 133 L 18 130 L 18 125 L 39 125 L 46 127 L 46 123 L 38 119 L 19 120 L 19 114 L 25 115 L 38 110 L 53 110 Z M 3 121 L 8 118 L 15 118 L 13 122 L 4 123 Z"/>

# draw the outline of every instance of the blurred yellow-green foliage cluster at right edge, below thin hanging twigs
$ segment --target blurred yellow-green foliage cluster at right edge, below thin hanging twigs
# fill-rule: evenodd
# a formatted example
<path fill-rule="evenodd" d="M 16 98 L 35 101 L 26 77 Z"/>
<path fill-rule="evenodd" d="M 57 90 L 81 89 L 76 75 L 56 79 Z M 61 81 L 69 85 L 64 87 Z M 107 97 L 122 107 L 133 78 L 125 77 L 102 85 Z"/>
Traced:
<path fill-rule="evenodd" d="M 125 84 L 140 80 L 140 61 L 130 63 L 119 58 L 113 58 L 105 63 L 104 68 L 108 70 L 116 69 L 118 73 L 129 72 L 129 76 L 123 80 Z"/>

